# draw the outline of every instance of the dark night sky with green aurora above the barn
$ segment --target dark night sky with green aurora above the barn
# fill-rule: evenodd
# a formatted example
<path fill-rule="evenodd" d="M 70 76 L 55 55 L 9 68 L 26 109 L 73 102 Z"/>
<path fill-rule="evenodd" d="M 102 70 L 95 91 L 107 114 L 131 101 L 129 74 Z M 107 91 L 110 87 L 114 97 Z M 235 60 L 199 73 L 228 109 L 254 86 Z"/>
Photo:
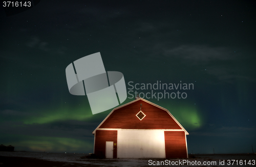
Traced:
<path fill-rule="evenodd" d="M 0 144 L 92 153 L 92 131 L 112 109 L 92 115 L 87 96 L 69 93 L 65 70 L 100 52 L 106 71 L 123 73 L 127 91 L 135 91 L 130 81 L 194 84 L 180 90 L 185 99 L 145 98 L 188 131 L 188 153 L 251 153 L 255 7 L 254 1 L 46 0 L 8 17 L 1 8 Z M 132 100 L 127 95 L 122 104 Z"/>

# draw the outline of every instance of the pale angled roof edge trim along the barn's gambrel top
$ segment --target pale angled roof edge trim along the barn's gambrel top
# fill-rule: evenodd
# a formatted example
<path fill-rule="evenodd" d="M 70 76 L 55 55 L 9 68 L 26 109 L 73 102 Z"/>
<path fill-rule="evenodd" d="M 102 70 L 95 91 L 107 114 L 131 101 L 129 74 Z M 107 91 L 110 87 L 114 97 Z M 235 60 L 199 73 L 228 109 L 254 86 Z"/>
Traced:
<path fill-rule="evenodd" d="M 185 131 L 185 134 L 186 134 L 186 135 L 189 134 L 189 133 L 183 128 L 183 126 L 174 118 L 174 116 L 173 116 L 172 114 L 170 114 L 170 112 L 169 112 L 166 108 L 163 108 L 163 107 L 161 107 L 161 106 L 159 106 L 159 105 L 157 105 L 157 104 L 155 104 L 155 103 L 152 103 L 152 102 L 150 102 L 150 101 L 147 101 L 147 100 L 145 100 L 145 99 L 143 99 L 143 98 L 138 98 L 138 99 L 133 100 L 133 101 L 131 101 L 131 102 L 129 102 L 129 103 L 126 103 L 126 104 L 123 104 L 123 105 L 121 105 L 121 106 L 118 106 L 118 107 L 114 108 L 114 109 L 112 110 L 112 112 L 99 124 L 99 126 L 98 126 L 92 133 L 95 134 L 96 130 L 99 129 L 99 127 L 111 116 L 111 114 L 112 114 L 115 110 L 117 110 L 117 109 L 119 109 L 119 108 L 122 108 L 122 107 L 124 107 L 124 106 L 126 106 L 126 105 L 132 104 L 132 103 L 134 103 L 134 102 L 136 102 L 136 101 L 139 101 L 139 100 L 142 100 L 142 101 L 144 101 L 144 102 L 146 102 L 146 103 L 149 103 L 149 104 L 152 104 L 152 105 L 154 105 L 154 106 L 156 106 L 156 107 L 158 107 L 158 108 L 160 108 L 160 109 L 162 109 L 162 110 L 165 110 L 165 111 L 169 114 L 169 116 L 172 117 L 173 120 L 178 124 L 178 126 L 179 126 L 182 130 Z"/>

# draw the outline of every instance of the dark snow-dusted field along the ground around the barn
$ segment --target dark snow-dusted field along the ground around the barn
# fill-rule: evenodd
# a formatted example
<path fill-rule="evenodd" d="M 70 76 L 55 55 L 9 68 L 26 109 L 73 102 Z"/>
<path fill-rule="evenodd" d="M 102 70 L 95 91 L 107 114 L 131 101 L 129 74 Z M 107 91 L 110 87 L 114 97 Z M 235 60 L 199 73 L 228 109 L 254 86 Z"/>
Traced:
<path fill-rule="evenodd" d="M 0 152 L 0 156 L 67 162 L 74 166 L 256 166 L 255 154 L 193 155 L 188 159 L 82 159 L 88 154 Z M 245 164 L 246 163 L 246 164 Z M 1 166 L 1 164 L 0 164 Z"/>

